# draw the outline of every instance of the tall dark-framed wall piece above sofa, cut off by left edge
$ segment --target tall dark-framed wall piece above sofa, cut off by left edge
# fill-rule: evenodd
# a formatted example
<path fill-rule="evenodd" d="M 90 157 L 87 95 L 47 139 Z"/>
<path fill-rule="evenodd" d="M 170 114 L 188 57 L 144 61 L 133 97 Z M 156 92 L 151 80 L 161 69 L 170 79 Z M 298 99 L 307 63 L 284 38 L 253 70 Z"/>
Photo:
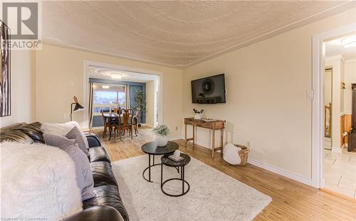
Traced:
<path fill-rule="evenodd" d="M 11 115 L 10 29 L 0 20 L 0 117 Z"/>

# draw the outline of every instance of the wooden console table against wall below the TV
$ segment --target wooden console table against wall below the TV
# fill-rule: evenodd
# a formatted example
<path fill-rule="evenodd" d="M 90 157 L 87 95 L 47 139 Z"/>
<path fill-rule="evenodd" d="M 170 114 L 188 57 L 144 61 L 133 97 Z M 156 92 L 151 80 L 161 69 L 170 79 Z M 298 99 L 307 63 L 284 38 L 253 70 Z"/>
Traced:
<path fill-rule="evenodd" d="M 195 145 L 195 127 L 206 128 L 212 131 L 212 139 L 211 139 L 211 158 L 214 158 L 214 153 L 216 150 L 221 150 L 221 154 L 223 153 L 224 147 L 224 128 L 225 121 L 224 120 L 196 120 L 194 118 L 184 118 L 185 125 L 185 140 L 184 145 L 187 146 L 187 141 L 193 140 L 193 148 Z M 187 125 L 193 126 L 193 137 L 187 138 Z M 221 132 L 221 146 L 219 148 L 215 148 L 215 131 L 220 130 Z"/>

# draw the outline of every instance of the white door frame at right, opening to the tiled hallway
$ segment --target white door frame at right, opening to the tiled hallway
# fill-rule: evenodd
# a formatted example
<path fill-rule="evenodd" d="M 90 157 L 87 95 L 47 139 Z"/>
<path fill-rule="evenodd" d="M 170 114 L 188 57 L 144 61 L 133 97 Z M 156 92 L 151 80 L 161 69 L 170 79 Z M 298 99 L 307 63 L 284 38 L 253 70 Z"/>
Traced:
<path fill-rule="evenodd" d="M 324 41 L 344 34 L 356 32 L 356 23 L 313 36 L 313 123 L 312 123 L 312 185 L 324 186 L 323 175 L 323 131 L 324 131 Z"/>

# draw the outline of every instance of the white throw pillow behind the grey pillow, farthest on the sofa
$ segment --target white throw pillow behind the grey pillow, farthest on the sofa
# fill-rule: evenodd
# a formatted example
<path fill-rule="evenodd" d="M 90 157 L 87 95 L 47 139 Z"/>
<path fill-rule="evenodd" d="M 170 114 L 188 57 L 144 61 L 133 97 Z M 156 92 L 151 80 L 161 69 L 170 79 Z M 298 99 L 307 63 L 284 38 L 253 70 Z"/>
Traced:
<path fill-rule="evenodd" d="M 70 121 L 67 123 L 42 123 L 41 130 L 43 133 L 51 133 L 64 136 L 70 130 L 72 130 L 73 127 L 77 127 L 80 130 L 80 125 L 75 121 Z M 89 150 L 88 140 L 82 130 L 80 130 L 80 135 L 82 135 L 83 137 L 85 147 L 87 148 L 87 150 Z"/>

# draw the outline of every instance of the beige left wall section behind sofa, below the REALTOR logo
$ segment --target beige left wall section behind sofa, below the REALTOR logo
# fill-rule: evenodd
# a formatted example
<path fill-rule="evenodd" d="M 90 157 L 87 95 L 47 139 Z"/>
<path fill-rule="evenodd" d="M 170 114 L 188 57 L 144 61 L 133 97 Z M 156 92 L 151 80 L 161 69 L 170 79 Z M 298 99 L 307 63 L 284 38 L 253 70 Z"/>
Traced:
<path fill-rule="evenodd" d="M 0 127 L 34 119 L 35 53 L 11 51 L 11 115 L 0 118 Z"/>

